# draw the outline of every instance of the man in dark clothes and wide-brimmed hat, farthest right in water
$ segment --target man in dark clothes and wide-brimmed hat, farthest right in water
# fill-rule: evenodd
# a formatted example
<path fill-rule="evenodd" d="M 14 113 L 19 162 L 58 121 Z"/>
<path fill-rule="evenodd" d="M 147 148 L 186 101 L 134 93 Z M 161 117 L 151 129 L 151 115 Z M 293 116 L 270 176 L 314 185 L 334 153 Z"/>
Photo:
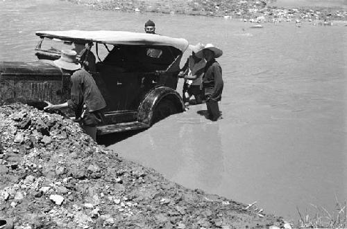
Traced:
<path fill-rule="evenodd" d="M 206 44 L 205 48 L 196 53 L 197 57 L 203 57 L 206 60 L 206 66 L 203 75 L 203 89 L 205 91 L 205 102 L 208 108 L 208 118 L 217 121 L 221 116 L 218 102 L 221 101 L 223 91 L 223 79 L 221 66 L 215 58 L 223 55 L 221 49 L 213 44 Z"/>

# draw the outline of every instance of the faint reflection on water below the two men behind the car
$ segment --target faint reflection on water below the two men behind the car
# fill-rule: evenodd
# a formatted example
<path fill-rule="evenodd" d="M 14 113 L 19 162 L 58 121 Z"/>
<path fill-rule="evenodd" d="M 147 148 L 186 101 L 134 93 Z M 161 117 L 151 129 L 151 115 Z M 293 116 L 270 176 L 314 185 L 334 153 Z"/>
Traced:
<path fill-rule="evenodd" d="M 223 158 L 219 125 L 182 125 L 178 132 L 181 145 L 178 150 L 185 166 L 174 173 L 173 178 L 184 177 L 185 182 L 194 183 L 194 187 L 205 184 L 209 190 L 216 190 L 222 182 Z M 201 144 L 203 142 L 204 144 Z M 202 153 L 203 152 L 203 153 Z M 208 181 L 208 182 L 206 182 Z"/>

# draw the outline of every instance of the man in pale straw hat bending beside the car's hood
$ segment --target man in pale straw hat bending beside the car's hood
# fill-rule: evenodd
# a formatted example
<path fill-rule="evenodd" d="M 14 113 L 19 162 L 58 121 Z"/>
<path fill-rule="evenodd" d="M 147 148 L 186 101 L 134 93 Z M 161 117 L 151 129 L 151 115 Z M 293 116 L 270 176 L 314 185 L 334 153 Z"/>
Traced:
<path fill-rule="evenodd" d="M 76 120 L 81 120 L 81 127 L 85 133 L 96 140 L 96 125 L 103 120 L 102 109 L 106 107 L 106 103 L 92 75 L 81 68 L 76 55 L 76 51 L 63 50 L 61 57 L 53 61 L 62 71 L 71 74 L 71 98 L 63 104 L 46 102 L 48 106 L 44 107 L 44 110 L 51 111 L 67 107 L 73 109 Z"/>

